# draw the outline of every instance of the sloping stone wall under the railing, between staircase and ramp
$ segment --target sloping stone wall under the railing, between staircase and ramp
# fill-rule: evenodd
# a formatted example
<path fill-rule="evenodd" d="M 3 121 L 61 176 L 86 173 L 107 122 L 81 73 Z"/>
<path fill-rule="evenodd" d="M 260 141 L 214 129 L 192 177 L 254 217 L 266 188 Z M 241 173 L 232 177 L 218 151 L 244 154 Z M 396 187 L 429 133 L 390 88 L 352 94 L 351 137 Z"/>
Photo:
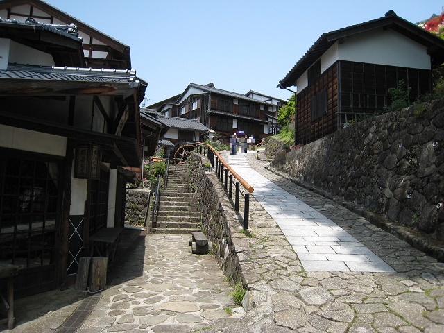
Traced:
<path fill-rule="evenodd" d="M 248 252 L 248 239 L 239 231 L 239 219 L 232 212 L 223 187 L 213 172 L 205 171 L 207 157 L 191 154 L 187 159 L 191 181 L 196 186 L 202 205 L 202 231 L 213 243 L 213 253 L 223 272 L 234 281 L 241 280 L 239 257 Z"/>

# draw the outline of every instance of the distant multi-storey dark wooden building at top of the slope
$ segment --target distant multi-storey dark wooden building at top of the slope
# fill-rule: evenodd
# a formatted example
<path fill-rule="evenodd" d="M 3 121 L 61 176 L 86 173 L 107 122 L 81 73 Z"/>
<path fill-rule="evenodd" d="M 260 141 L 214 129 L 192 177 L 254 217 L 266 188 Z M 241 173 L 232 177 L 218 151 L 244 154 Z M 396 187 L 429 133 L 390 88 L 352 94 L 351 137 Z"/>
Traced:
<path fill-rule="evenodd" d="M 197 119 L 207 128 L 225 137 L 228 142 L 233 133 L 253 135 L 256 140 L 275 134 L 278 109 L 286 101 L 275 99 L 250 90 L 237 94 L 217 89 L 212 83 L 190 83 L 182 94 L 150 105 L 162 114 L 173 117 Z"/>

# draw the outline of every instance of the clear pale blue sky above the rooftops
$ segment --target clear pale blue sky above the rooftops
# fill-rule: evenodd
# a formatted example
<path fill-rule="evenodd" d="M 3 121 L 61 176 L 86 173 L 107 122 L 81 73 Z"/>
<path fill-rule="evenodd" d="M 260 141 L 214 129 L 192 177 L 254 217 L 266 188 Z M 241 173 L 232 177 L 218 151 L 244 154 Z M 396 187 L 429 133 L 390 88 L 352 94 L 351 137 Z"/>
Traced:
<path fill-rule="evenodd" d="M 148 82 L 146 105 L 189 83 L 214 83 L 280 99 L 276 88 L 323 33 L 383 17 L 416 23 L 444 1 L 44 0 L 130 46 L 133 69 Z"/>

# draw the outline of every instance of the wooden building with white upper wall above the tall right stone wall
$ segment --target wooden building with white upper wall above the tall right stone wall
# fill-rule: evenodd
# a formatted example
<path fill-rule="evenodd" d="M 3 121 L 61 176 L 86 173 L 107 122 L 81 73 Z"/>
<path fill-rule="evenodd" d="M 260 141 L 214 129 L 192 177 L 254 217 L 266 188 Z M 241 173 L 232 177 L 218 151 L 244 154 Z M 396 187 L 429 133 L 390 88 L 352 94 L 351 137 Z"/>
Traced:
<path fill-rule="evenodd" d="M 400 80 L 409 99 L 432 91 L 432 69 L 444 62 L 444 41 L 398 17 L 324 33 L 279 83 L 297 87 L 296 144 L 307 144 L 383 110 Z"/>

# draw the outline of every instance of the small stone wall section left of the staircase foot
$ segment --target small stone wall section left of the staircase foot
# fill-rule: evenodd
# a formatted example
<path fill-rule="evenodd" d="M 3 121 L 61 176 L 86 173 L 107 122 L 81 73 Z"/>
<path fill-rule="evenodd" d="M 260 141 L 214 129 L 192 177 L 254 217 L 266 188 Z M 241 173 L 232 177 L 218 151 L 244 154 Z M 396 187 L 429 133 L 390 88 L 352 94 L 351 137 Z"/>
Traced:
<path fill-rule="evenodd" d="M 127 189 L 125 221 L 129 225 L 144 225 L 150 189 Z"/>

